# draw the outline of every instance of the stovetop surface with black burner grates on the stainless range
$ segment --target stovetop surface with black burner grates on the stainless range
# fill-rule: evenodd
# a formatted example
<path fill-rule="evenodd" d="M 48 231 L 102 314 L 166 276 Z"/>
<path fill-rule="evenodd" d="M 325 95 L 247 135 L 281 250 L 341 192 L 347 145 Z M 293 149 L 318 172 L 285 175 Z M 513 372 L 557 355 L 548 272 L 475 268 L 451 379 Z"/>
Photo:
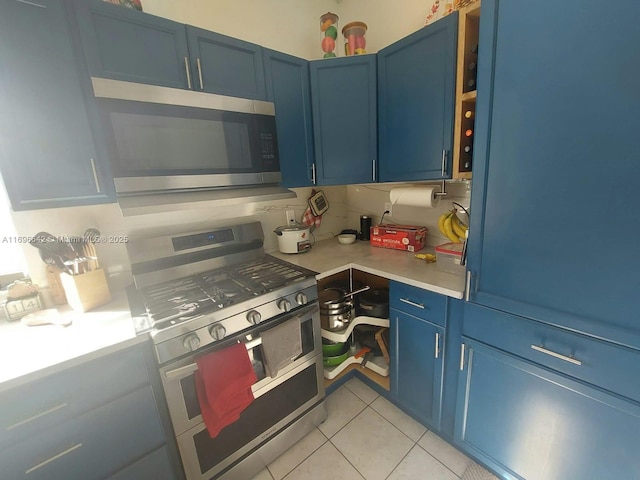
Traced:
<path fill-rule="evenodd" d="M 142 289 L 141 293 L 153 327 L 162 329 L 308 276 L 307 270 L 265 255 L 259 260 L 153 285 Z"/>

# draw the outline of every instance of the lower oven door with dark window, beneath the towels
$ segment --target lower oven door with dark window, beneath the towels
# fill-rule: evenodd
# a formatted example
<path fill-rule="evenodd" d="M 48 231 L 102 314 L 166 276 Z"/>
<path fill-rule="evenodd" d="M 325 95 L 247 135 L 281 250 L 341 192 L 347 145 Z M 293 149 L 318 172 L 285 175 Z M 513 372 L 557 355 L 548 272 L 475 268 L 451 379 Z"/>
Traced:
<path fill-rule="evenodd" d="M 298 364 L 255 391 L 256 399 L 211 438 L 204 423 L 178 435 L 188 480 L 209 480 L 268 441 L 324 398 L 322 355 Z"/>

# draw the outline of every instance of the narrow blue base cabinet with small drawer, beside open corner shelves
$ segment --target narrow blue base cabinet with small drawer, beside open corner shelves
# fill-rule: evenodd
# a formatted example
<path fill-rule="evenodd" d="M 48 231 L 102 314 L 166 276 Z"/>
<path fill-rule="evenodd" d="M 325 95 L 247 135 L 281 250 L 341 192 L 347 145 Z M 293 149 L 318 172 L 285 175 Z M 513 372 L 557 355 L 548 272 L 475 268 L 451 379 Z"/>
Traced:
<path fill-rule="evenodd" d="M 447 298 L 389 282 L 391 395 L 438 431 L 442 409 Z"/>

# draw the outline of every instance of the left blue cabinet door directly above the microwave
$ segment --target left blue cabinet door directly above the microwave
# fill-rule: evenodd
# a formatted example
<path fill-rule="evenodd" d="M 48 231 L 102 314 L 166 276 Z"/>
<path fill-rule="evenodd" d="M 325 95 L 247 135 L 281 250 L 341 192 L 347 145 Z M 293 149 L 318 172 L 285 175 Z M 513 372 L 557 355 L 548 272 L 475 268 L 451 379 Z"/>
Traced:
<path fill-rule="evenodd" d="M 99 0 L 73 5 L 91 76 L 190 88 L 183 24 Z"/>

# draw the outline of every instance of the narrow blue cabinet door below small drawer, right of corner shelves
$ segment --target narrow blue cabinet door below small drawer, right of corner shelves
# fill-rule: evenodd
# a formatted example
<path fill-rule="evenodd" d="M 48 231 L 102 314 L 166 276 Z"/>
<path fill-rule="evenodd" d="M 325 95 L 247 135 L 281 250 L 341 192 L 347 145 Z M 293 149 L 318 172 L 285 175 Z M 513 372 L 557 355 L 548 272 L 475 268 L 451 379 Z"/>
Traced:
<path fill-rule="evenodd" d="M 428 427 L 439 430 L 444 329 L 392 308 L 391 395 Z"/>

